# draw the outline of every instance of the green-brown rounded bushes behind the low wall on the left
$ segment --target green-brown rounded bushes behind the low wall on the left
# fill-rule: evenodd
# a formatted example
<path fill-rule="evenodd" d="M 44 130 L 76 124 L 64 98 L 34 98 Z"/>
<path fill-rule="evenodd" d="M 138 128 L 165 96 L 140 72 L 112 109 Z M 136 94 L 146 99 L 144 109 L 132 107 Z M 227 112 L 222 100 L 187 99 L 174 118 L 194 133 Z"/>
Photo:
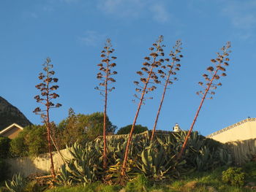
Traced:
<path fill-rule="evenodd" d="M 94 112 L 89 115 L 78 114 L 69 110 L 69 116 L 62 120 L 59 125 L 52 123 L 53 139 L 59 149 L 64 149 L 66 145 L 71 146 L 75 142 L 84 144 L 102 135 L 103 113 Z M 107 132 L 113 133 L 116 126 L 107 117 Z M 15 139 L 0 137 L 1 151 L 11 157 L 39 155 L 48 153 L 48 144 L 45 139 L 47 135 L 45 126 L 26 126 Z M 10 145 L 4 141 L 8 140 Z M 8 143 L 9 143 L 8 142 Z M 9 153 L 10 146 L 10 153 Z M 54 146 L 53 146 L 54 147 Z"/>

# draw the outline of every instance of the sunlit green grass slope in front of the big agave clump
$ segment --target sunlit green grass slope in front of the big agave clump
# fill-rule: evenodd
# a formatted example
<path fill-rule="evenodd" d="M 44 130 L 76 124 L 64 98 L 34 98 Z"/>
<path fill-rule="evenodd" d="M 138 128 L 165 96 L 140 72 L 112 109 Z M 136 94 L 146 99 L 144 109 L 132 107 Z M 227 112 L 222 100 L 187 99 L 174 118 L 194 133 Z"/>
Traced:
<path fill-rule="evenodd" d="M 254 182 L 256 185 L 256 163 L 246 164 L 244 167 L 244 172 L 246 172 L 246 183 Z M 194 172 L 182 180 L 175 180 L 169 183 L 158 183 L 152 184 L 145 181 L 145 178 L 138 178 L 135 181 L 132 181 L 127 184 L 125 187 L 126 192 L 137 192 L 137 191 L 154 191 L 154 192 L 187 192 L 187 191 L 195 191 L 195 192 L 206 192 L 206 191 L 221 191 L 221 192 L 249 192 L 256 191 L 249 188 L 239 188 L 235 186 L 230 186 L 222 183 L 222 171 L 225 168 L 215 169 L 212 172 Z M 91 185 L 78 185 L 74 187 L 61 187 L 61 188 L 53 188 L 48 190 L 48 192 L 75 192 L 75 191 L 120 191 L 121 186 L 109 186 L 104 185 L 102 183 L 93 183 Z"/>

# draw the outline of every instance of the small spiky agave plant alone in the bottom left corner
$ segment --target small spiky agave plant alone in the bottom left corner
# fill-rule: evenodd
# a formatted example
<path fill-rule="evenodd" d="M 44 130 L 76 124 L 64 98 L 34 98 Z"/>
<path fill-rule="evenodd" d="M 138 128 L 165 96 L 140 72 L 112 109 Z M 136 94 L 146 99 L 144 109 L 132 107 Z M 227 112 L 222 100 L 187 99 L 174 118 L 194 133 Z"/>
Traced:
<path fill-rule="evenodd" d="M 22 192 L 26 187 L 26 179 L 21 174 L 14 174 L 12 180 L 6 181 L 5 185 L 11 192 Z"/>

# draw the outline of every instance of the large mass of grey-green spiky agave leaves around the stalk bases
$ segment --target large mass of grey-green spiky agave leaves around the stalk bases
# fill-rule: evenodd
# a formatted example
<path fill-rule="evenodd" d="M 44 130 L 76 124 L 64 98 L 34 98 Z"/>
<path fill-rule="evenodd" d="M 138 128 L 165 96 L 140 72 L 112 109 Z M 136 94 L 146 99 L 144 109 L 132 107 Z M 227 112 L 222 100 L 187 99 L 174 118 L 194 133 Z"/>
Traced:
<path fill-rule="evenodd" d="M 127 137 L 108 139 L 108 168 L 102 167 L 102 140 L 75 143 L 69 151 L 72 159 L 61 167 L 58 176 L 59 185 L 75 183 L 124 184 L 138 174 L 149 180 L 163 182 L 179 178 L 193 170 L 206 171 L 219 166 L 232 164 L 232 158 L 224 145 L 213 139 L 203 137 L 197 132 L 189 139 L 189 148 L 183 158 L 176 156 L 181 149 L 187 132 L 173 133 L 157 137 L 151 142 L 149 137 L 137 134 L 132 137 L 127 174 L 124 180 L 120 175 L 121 162 L 124 159 Z"/>

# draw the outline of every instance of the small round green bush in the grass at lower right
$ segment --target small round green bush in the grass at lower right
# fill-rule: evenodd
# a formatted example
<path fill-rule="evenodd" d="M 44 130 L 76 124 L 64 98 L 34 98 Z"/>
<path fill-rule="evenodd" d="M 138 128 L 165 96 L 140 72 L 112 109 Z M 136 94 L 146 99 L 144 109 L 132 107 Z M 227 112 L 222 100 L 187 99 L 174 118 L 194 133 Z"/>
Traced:
<path fill-rule="evenodd" d="M 222 181 L 224 183 L 234 185 L 234 186 L 243 186 L 245 180 L 245 173 L 242 172 L 241 168 L 230 167 L 226 171 L 222 172 Z"/>

